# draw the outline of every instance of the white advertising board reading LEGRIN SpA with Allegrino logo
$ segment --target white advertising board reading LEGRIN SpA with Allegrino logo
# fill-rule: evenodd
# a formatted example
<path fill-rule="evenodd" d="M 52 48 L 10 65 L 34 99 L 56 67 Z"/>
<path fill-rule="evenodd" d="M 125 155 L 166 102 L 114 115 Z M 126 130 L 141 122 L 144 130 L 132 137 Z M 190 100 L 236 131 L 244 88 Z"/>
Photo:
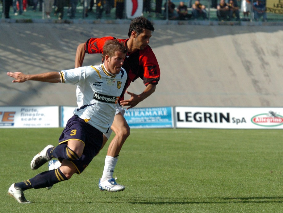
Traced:
<path fill-rule="evenodd" d="M 283 109 L 176 107 L 177 128 L 283 129 Z"/>

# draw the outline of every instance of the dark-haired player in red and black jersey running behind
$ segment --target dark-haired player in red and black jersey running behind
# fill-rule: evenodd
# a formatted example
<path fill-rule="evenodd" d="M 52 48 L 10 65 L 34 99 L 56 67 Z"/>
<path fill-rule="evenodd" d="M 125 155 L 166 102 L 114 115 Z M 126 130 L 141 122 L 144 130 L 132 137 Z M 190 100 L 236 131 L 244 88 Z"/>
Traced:
<path fill-rule="evenodd" d="M 128 50 L 123 64 L 123 68 L 126 70 L 128 78 L 121 98 L 119 99 L 120 105 L 128 106 L 127 109 L 135 107 L 139 102 L 151 95 L 155 91 L 156 84 L 159 81 L 160 68 L 155 54 L 150 46 L 148 46 L 149 39 L 152 37 L 153 31 L 154 27 L 152 22 L 144 17 L 137 17 L 130 23 L 128 32 L 129 38 L 118 39 L 125 43 Z M 82 66 L 85 53 L 102 53 L 104 42 L 109 39 L 115 38 L 89 38 L 85 43 L 78 45 L 75 67 Z M 134 82 L 138 78 L 141 78 L 144 81 L 144 85 L 146 86 L 144 91 L 141 94 L 134 94 L 127 91 L 126 89 L 130 83 Z M 124 100 L 125 92 L 131 95 L 130 99 Z M 114 122 L 111 126 L 111 130 L 114 131 L 116 135 L 109 145 L 102 178 L 99 179 L 98 184 L 98 187 L 102 191 L 122 191 L 125 188 L 124 186 L 116 183 L 115 179 L 113 179 L 113 172 L 118 160 L 119 152 L 123 143 L 130 135 L 130 127 L 126 122 L 126 119 L 123 117 L 124 112 L 125 111 L 121 107 L 117 106 Z M 103 145 L 107 142 L 110 134 L 108 133 L 107 135 L 104 135 Z"/>

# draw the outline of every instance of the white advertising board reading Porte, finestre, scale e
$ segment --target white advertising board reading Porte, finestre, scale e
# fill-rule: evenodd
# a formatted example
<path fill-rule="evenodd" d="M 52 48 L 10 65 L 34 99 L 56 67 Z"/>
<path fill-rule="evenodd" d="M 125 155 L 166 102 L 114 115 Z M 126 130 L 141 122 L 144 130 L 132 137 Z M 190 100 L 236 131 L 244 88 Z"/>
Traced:
<path fill-rule="evenodd" d="M 59 127 L 59 107 L 0 107 L 0 128 Z"/>

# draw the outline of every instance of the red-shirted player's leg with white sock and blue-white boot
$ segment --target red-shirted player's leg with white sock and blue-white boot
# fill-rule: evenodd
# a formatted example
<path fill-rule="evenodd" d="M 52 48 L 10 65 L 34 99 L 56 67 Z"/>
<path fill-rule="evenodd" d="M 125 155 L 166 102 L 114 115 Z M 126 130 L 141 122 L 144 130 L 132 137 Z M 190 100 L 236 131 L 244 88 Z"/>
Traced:
<path fill-rule="evenodd" d="M 115 115 L 111 129 L 116 135 L 109 144 L 102 178 L 99 179 L 98 187 L 102 191 L 123 191 L 125 187 L 116 183 L 113 173 L 121 148 L 130 135 L 130 127 L 123 115 L 119 113 Z"/>

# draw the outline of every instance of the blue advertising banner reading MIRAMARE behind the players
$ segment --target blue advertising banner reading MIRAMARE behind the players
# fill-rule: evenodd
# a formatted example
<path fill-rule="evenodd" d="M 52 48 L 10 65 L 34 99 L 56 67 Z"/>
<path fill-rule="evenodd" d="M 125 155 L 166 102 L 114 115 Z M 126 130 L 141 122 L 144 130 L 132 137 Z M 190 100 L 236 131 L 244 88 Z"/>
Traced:
<path fill-rule="evenodd" d="M 124 118 L 131 128 L 173 128 L 173 107 L 131 108 Z"/>

